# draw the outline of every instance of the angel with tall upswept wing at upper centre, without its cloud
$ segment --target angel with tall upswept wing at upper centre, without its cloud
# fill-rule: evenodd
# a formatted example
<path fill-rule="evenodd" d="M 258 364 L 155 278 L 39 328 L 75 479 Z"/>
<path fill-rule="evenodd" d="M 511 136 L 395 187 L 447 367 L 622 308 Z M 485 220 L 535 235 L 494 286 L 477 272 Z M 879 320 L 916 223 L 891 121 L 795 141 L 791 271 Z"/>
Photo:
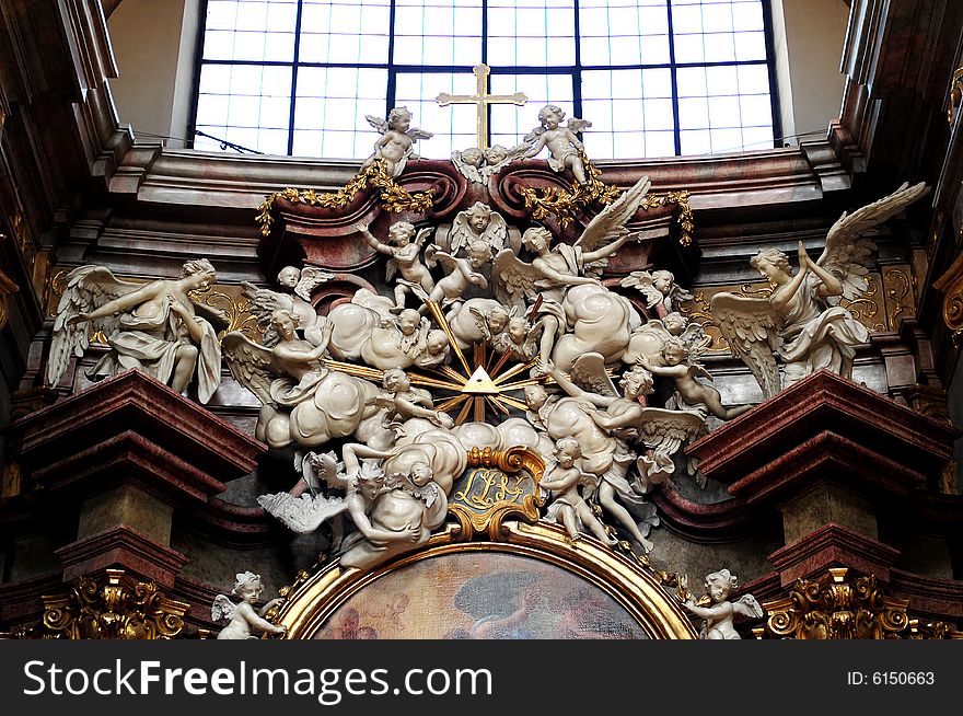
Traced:
<path fill-rule="evenodd" d="M 535 315 L 530 319 L 534 321 L 537 316 L 543 322 L 541 370 L 548 369 L 555 342 L 567 328 L 562 302 L 568 290 L 593 285 L 599 291 L 607 291 L 597 276 L 608 256 L 633 238 L 625 224 L 638 210 L 650 186 L 648 177 L 639 180 L 600 211 L 573 245 L 560 243 L 550 247 L 552 233 L 536 227 L 522 235 L 523 244 L 535 256 L 531 264 L 520 261 L 510 249 L 498 252 L 495 257 L 491 275 L 500 303 L 524 311 L 526 299 L 538 300 Z"/>

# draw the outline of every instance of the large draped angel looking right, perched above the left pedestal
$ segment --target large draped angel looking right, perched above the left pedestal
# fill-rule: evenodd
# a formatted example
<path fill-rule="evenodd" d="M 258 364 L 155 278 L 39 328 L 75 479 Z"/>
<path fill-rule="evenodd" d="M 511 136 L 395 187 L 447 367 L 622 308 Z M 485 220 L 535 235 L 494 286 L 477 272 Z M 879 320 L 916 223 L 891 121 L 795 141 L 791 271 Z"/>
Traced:
<path fill-rule="evenodd" d="M 148 284 L 119 279 L 105 266 L 74 268 L 54 320 L 47 382 L 60 382 L 70 355 L 80 357 L 89 347 L 93 328 L 107 336 L 111 351 L 90 370 L 91 378 L 136 368 L 177 393 L 196 380 L 198 400 L 207 403 L 221 382 L 221 349 L 217 331 L 198 312 L 227 321 L 189 295 L 216 280 L 207 258 L 185 263 L 179 278 Z"/>

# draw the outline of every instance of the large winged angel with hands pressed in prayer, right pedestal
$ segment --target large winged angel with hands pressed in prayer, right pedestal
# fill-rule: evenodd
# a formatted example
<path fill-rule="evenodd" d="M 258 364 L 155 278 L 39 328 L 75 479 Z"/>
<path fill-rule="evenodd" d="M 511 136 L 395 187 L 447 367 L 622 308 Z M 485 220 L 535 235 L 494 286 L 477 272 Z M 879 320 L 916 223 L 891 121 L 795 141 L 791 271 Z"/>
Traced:
<path fill-rule="evenodd" d="M 829 229 L 817 261 L 800 242 L 794 275 L 786 254 L 759 251 L 751 264 L 775 286 L 768 298 L 724 292 L 712 297 L 711 313 L 722 336 L 732 355 L 749 366 L 765 397 L 821 368 L 851 376 L 855 346 L 866 343 L 869 333 L 839 299 L 852 300 L 866 289 L 863 277 L 875 249 L 867 238 L 870 230 L 928 192 L 923 183 L 904 183 L 879 201 L 844 212 Z M 781 385 L 777 356 L 784 363 Z"/>

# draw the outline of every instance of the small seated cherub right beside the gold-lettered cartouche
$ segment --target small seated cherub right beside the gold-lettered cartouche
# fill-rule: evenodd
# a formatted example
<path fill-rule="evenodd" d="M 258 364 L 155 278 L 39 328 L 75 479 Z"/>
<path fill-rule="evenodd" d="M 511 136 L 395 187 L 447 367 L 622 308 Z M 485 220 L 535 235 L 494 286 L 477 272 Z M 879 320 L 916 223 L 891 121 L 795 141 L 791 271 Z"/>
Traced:
<path fill-rule="evenodd" d="M 576 465 L 576 461 L 581 457 L 582 450 L 575 438 L 561 438 L 555 443 L 555 463 L 545 471 L 538 483 L 539 487 L 553 490 L 548 517 L 553 520 L 560 519 L 572 540 L 581 536 L 580 528 L 588 528 L 600 542 L 608 545 L 617 544 L 618 540 L 606 532 L 605 526 L 599 521 L 579 493 L 580 484 L 595 483 L 593 475 L 583 473 Z"/>

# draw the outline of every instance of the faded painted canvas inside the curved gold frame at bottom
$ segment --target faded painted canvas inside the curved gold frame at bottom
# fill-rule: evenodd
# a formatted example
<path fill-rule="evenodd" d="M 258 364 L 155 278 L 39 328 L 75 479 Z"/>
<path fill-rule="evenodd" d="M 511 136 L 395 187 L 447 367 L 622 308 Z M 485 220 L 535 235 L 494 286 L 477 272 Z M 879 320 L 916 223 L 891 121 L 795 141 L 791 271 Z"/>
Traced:
<path fill-rule="evenodd" d="M 553 564 L 499 552 L 430 557 L 352 594 L 322 639 L 635 639 L 607 593 Z"/>

